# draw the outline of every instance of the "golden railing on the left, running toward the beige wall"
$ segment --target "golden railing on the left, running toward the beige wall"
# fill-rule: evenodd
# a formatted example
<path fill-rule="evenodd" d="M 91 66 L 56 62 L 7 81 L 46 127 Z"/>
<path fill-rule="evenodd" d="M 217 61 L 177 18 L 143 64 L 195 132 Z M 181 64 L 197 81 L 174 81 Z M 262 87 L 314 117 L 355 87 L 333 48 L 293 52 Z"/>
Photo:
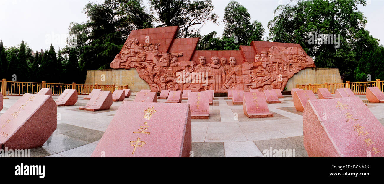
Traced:
<path fill-rule="evenodd" d="M 79 95 L 87 95 L 93 89 L 101 89 L 114 92 L 115 89 L 129 89 L 128 85 L 98 85 L 98 84 L 59 84 L 42 82 L 10 82 L 3 79 L 1 82 L 1 93 L 7 95 L 23 95 L 25 93 L 36 94 L 41 88 L 49 88 L 52 95 L 60 95 L 66 89 L 76 89 Z"/>

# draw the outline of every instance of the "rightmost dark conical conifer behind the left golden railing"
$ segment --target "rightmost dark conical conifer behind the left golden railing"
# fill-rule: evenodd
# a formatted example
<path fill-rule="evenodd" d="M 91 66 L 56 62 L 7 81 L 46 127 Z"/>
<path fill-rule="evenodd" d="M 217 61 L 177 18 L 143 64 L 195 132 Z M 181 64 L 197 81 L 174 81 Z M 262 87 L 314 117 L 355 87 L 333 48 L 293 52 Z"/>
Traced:
<path fill-rule="evenodd" d="M 78 74 L 79 74 L 79 62 L 76 55 L 76 50 L 71 49 L 68 62 L 65 65 L 65 69 L 63 70 L 63 73 L 61 74 L 61 79 L 63 80 L 63 83 L 70 84 L 72 82 L 81 82 L 79 80 Z"/>

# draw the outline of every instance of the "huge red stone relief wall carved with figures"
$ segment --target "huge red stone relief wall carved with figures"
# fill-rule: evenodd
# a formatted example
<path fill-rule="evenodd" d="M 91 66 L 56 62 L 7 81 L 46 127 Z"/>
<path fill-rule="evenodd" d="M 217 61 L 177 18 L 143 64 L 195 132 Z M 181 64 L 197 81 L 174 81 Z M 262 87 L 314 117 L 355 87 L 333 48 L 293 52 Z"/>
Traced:
<path fill-rule="evenodd" d="M 113 69 L 137 70 L 161 90 L 284 90 L 290 77 L 316 67 L 299 44 L 252 41 L 240 50 L 195 50 L 199 38 L 175 39 L 179 27 L 133 30 Z"/>

